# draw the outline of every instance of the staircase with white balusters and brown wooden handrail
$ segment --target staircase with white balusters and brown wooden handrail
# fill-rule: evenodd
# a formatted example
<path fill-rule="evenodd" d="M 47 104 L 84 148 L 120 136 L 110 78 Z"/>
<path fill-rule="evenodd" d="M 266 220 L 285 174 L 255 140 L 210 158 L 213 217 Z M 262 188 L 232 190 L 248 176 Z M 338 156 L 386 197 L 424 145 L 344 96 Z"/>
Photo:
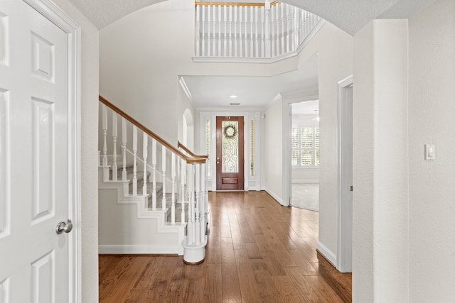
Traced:
<path fill-rule="evenodd" d="M 207 157 L 181 143 L 174 148 L 106 99 L 100 101 L 100 253 L 178 254 L 185 263 L 203 262 Z"/>

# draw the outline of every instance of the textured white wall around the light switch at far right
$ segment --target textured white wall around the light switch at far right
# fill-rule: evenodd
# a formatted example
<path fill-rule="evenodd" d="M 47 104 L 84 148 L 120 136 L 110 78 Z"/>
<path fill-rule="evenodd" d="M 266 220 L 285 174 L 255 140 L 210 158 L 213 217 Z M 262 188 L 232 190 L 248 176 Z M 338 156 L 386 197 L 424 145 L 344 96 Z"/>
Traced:
<path fill-rule="evenodd" d="M 410 302 L 455 297 L 455 1 L 410 18 Z M 424 160 L 424 144 L 436 160 Z"/>

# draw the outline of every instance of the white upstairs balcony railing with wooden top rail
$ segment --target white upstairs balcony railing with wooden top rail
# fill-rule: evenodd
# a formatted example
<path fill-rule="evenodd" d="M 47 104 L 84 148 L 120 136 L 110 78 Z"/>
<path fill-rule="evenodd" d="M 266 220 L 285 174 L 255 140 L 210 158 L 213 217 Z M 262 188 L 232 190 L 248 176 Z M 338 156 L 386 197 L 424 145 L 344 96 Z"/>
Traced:
<path fill-rule="evenodd" d="M 196 2 L 196 57 L 273 58 L 298 50 L 319 16 L 289 4 Z"/>

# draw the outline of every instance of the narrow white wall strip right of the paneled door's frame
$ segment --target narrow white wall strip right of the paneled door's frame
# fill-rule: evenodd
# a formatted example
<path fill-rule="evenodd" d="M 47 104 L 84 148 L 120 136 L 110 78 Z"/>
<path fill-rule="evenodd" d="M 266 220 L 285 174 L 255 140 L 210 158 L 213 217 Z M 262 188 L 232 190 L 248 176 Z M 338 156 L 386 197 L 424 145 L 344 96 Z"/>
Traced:
<path fill-rule="evenodd" d="M 98 121 L 98 66 L 99 32 L 67 0 L 54 0 L 55 4 L 73 18 L 81 31 L 81 221 L 82 228 L 82 299 L 81 302 L 98 302 L 98 172 L 97 172 L 97 121 Z"/>

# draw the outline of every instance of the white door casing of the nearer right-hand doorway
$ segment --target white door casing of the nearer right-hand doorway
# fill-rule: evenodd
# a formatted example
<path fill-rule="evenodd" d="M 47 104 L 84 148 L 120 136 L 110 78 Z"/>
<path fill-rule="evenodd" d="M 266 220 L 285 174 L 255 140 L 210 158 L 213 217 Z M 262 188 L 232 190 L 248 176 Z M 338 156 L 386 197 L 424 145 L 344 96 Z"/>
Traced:
<path fill-rule="evenodd" d="M 346 181 L 343 176 L 353 175 L 352 163 L 350 167 L 343 160 L 346 153 L 349 152 L 348 146 L 346 145 L 346 138 L 353 141 L 353 129 L 346 129 L 346 123 L 348 119 L 353 119 L 353 97 L 346 94 L 346 89 L 353 86 L 353 76 L 350 75 L 345 79 L 338 82 L 338 189 L 337 189 L 337 208 L 338 208 L 338 249 L 336 254 L 336 268 L 340 272 L 352 272 L 352 224 L 353 224 L 353 204 L 349 203 L 348 187 L 352 185 L 351 182 Z M 346 104 L 346 101 L 350 104 Z M 348 112 L 350 111 L 350 112 Z M 352 149 L 351 155 L 352 158 Z"/>

